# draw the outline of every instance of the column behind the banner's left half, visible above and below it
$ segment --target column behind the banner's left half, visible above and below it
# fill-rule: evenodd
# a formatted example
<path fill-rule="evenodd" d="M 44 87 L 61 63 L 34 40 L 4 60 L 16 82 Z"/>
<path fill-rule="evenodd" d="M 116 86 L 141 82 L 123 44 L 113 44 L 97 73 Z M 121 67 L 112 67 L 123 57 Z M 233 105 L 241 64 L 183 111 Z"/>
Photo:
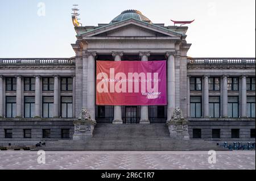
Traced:
<path fill-rule="evenodd" d="M 112 52 L 115 61 L 122 61 L 123 52 Z M 122 106 L 114 106 L 113 124 L 123 124 Z"/>

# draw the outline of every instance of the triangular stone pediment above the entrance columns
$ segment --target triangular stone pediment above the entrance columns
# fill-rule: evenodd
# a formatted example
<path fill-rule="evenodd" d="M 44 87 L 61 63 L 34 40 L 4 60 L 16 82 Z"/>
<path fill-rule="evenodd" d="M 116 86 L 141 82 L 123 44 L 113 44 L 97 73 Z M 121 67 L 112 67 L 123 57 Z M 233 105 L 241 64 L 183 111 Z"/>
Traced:
<path fill-rule="evenodd" d="M 108 24 L 96 30 L 82 33 L 86 37 L 173 37 L 184 36 L 181 33 L 168 30 L 154 24 L 148 24 L 136 19 L 127 19 L 122 22 Z"/>

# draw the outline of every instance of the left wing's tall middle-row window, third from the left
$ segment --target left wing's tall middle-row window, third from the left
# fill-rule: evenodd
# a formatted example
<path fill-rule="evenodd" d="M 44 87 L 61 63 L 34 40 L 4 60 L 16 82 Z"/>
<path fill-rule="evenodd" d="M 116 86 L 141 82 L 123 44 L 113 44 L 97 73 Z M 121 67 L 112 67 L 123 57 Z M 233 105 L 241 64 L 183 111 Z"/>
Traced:
<path fill-rule="evenodd" d="M 43 117 L 52 118 L 53 117 L 53 96 L 43 96 Z"/>

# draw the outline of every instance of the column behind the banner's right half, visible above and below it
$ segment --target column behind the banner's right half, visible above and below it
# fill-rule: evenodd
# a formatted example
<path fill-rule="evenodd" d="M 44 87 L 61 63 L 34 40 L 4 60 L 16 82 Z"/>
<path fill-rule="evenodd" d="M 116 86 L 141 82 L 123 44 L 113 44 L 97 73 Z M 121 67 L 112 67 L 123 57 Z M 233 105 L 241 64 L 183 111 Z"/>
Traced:
<path fill-rule="evenodd" d="M 148 61 L 150 52 L 139 52 L 139 56 L 141 56 L 141 61 Z M 141 106 L 141 120 L 139 124 L 150 124 L 150 120 L 148 119 L 148 106 Z"/>

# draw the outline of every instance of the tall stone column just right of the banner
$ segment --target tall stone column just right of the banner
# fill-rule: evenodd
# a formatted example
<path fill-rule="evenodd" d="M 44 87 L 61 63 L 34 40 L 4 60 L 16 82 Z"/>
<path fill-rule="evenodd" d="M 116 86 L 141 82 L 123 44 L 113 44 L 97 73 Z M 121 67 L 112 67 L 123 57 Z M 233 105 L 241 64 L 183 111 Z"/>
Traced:
<path fill-rule="evenodd" d="M 175 52 L 167 52 L 168 57 L 168 82 L 167 82 L 167 121 L 170 121 L 175 110 Z"/>

